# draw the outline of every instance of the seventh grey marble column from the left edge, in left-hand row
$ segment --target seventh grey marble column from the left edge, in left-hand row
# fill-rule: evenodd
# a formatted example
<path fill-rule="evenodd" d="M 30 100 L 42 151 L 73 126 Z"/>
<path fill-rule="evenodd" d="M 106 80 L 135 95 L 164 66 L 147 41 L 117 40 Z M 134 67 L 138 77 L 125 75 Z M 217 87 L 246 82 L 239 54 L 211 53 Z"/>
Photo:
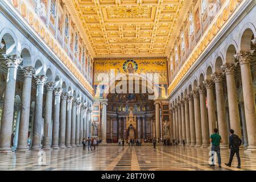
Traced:
<path fill-rule="evenodd" d="M 72 125 L 72 102 L 73 97 L 67 97 L 67 117 L 66 117 L 66 130 L 65 130 L 65 146 L 71 147 L 71 125 Z"/>

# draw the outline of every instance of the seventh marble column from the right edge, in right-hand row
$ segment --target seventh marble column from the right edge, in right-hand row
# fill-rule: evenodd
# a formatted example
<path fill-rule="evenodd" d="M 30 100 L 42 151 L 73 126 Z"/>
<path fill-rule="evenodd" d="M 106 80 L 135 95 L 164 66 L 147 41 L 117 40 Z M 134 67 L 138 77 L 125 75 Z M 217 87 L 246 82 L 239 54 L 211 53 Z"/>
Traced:
<path fill-rule="evenodd" d="M 191 145 L 196 145 L 196 129 L 195 129 L 195 113 L 194 113 L 194 102 L 193 94 L 189 95 L 189 123 L 190 123 L 190 135 L 191 135 Z"/>

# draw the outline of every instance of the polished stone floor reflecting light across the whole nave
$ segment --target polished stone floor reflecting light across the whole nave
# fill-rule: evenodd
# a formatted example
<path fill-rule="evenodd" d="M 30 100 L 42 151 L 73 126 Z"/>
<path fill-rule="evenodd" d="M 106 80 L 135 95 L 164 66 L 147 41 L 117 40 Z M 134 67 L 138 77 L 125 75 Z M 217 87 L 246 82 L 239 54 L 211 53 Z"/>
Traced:
<path fill-rule="evenodd" d="M 82 147 L 59 150 L 0 154 L 0 170 L 256 170 L 256 155 L 241 151 L 242 168 L 226 167 L 229 151 L 221 151 L 222 168 L 209 167 L 209 148 L 183 146 L 99 146 L 95 151 Z"/>

